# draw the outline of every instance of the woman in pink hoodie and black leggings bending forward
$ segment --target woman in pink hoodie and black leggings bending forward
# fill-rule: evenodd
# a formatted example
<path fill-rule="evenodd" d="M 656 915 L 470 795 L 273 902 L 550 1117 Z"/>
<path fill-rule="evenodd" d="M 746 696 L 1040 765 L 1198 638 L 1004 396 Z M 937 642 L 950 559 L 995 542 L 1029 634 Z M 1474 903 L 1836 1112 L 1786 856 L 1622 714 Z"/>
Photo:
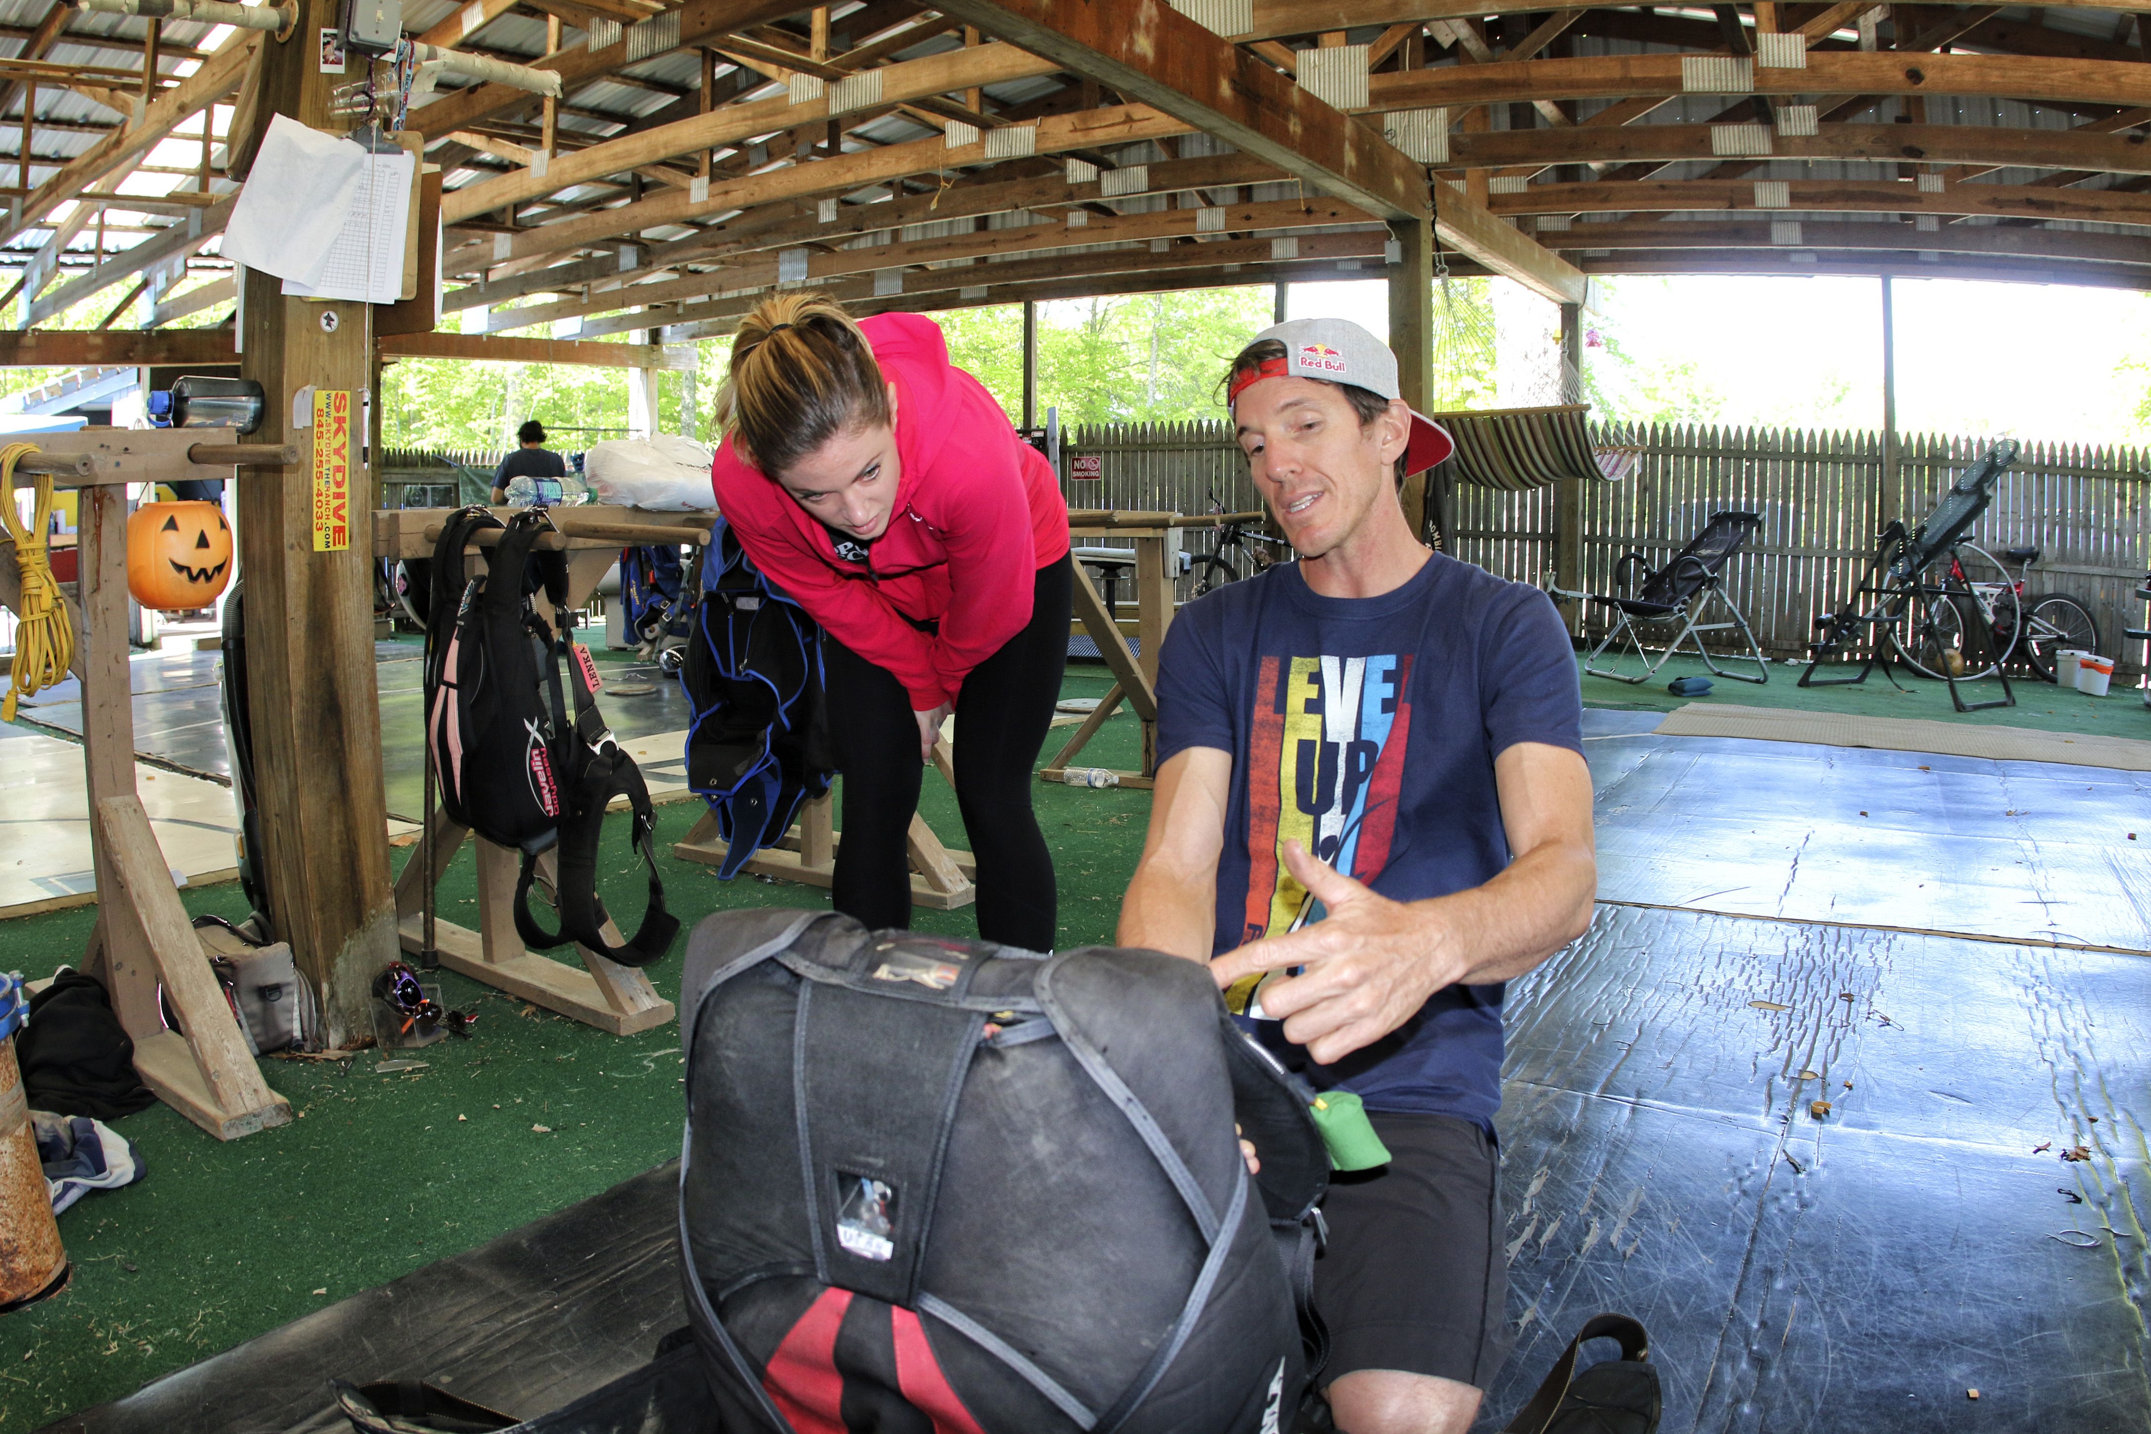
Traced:
<path fill-rule="evenodd" d="M 712 484 L 746 555 L 826 634 L 843 772 L 835 905 L 908 927 L 903 836 L 942 720 L 979 862 L 979 935 L 1052 950 L 1054 862 L 1030 770 L 1067 666 L 1067 503 L 918 314 L 854 322 L 779 295 L 731 342 Z"/>

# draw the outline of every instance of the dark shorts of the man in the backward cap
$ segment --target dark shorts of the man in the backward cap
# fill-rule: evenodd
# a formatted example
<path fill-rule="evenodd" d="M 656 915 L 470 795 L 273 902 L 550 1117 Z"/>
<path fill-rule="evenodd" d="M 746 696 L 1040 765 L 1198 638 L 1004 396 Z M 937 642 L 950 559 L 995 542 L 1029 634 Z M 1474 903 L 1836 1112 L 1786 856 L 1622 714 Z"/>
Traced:
<path fill-rule="evenodd" d="M 1510 1350 L 1495 1144 L 1454 1116 L 1370 1118 L 1390 1163 L 1338 1172 L 1323 1202 L 1323 1382 L 1402 1370 L 1486 1389 Z"/>

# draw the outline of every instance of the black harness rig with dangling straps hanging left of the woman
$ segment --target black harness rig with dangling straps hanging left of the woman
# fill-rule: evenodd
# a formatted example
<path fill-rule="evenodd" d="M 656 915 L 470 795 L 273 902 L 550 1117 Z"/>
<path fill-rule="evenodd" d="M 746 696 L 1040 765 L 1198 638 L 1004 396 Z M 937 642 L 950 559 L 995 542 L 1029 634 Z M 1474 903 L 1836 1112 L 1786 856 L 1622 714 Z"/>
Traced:
<path fill-rule="evenodd" d="M 486 570 L 469 574 L 471 537 L 499 527 L 505 531 L 486 553 Z M 426 752 L 447 819 L 523 851 L 516 935 L 527 946 L 576 942 L 609 961 L 647 965 L 680 931 L 658 879 L 656 811 L 641 770 L 598 712 L 589 654 L 568 641 L 568 565 L 559 553 L 533 553 L 549 527 L 542 510 L 503 525 L 484 507 L 465 507 L 443 527 L 426 623 Z M 553 602 L 551 628 L 533 604 L 540 589 Z M 572 722 L 564 662 L 574 684 Z M 604 940 L 609 914 L 596 890 L 598 836 L 615 795 L 632 806 L 630 836 L 650 873 L 643 922 L 622 946 Z M 531 916 L 529 890 L 538 856 L 555 845 L 559 931 L 546 931 Z"/>

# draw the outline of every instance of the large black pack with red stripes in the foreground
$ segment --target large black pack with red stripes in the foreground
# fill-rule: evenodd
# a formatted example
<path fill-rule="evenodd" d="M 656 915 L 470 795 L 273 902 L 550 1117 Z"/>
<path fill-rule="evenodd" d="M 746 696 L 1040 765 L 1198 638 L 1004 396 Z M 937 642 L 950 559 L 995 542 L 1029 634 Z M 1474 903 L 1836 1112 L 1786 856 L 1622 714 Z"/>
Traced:
<path fill-rule="evenodd" d="M 1329 1161 L 1200 963 L 729 912 L 680 1032 L 686 1305 L 729 1434 L 1291 1428 Z"/>

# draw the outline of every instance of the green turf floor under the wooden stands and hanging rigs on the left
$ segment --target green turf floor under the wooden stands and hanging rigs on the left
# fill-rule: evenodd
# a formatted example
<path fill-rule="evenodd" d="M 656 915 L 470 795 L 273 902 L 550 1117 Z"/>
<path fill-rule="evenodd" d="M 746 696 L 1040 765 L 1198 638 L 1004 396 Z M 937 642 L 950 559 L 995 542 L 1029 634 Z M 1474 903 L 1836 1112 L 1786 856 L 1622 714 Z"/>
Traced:
<path fill-rule="evenodd" d="M 1101 666 L 1069 673 L 1067 692 L 1099 697 Z M 1048 755 L 1067 729 L 1048 737 Z M 1097 765 L 1134 768 L 1140 729 L 1114 718 L 1086 748 Z M 1112 937 L 1121 892 L 1142 849 L 1149 793 L 1037 787 L 1039 823 L 1060 877 L 1060 944 Z M 961 843 L 955 795 L 927 776 L 921 811 Z M 669 851 L 701 813 L 658 808 Z M 624 817 L 607 830 L 604 866 L 622 905 L 639 909 L 639 862 Z M 409 849 L 396 851 L 396 862 Z M 667 901 L 688 924 L 755 905 L 820 907 L 804 886 L 663 858 Z M 187 909 L 245 916 L 237 884 L 181 892 Z M 441 884 L 441 914 L 475 909 L 469 847 Z M 95 907 L 0 922 L 0 965 L 30 976 L 80 959 Z M 970 909 L 914 914 L 921 931 L 974 935 Z M 671 1000 L 680 957 L 652 970 Z M 351 1062 L 265 1060 L 297 1120 L 217 1144 L 163 1105 L 120 1120 L 148 1178 L 86 1195 L 60 1217 L 73 1284 L 0 1318 L 0 1434 L 131 1393 L 140 1385 L 275 1329 L 329 1301 L 460 1253 L 549 1210 L 596 1195 L 680 1152 L 678 1028 L 607 1036 L 490 987 L 441 972 L 450 1006 L 478 1010 L 471 1041 L 411 1056 L 424 1071 L 379 1075 L 376 1051 Z M 546 1127 L 544 1131 L 536 1127 Z M 323 1370 L 372 1376 L 374 1370 Z"/>

